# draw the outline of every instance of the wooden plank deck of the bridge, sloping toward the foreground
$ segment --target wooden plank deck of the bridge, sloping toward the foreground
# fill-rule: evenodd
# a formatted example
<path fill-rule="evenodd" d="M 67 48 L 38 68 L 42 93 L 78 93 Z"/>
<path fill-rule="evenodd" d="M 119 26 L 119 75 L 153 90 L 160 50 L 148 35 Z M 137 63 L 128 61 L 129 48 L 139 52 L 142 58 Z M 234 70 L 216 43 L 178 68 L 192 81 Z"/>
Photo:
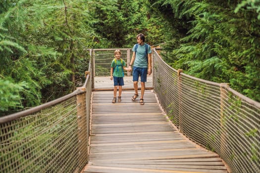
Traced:
<path fill-rule="evenodd" d="M 139 91 L 140 92 L 140 91 Z M 94 91 L 90 161 L 84 173 L 227 173 L 219 156 L 185 138 L 167 120 L 155 93 L 145 105 L 111 103 L 113 91 Z"/>

